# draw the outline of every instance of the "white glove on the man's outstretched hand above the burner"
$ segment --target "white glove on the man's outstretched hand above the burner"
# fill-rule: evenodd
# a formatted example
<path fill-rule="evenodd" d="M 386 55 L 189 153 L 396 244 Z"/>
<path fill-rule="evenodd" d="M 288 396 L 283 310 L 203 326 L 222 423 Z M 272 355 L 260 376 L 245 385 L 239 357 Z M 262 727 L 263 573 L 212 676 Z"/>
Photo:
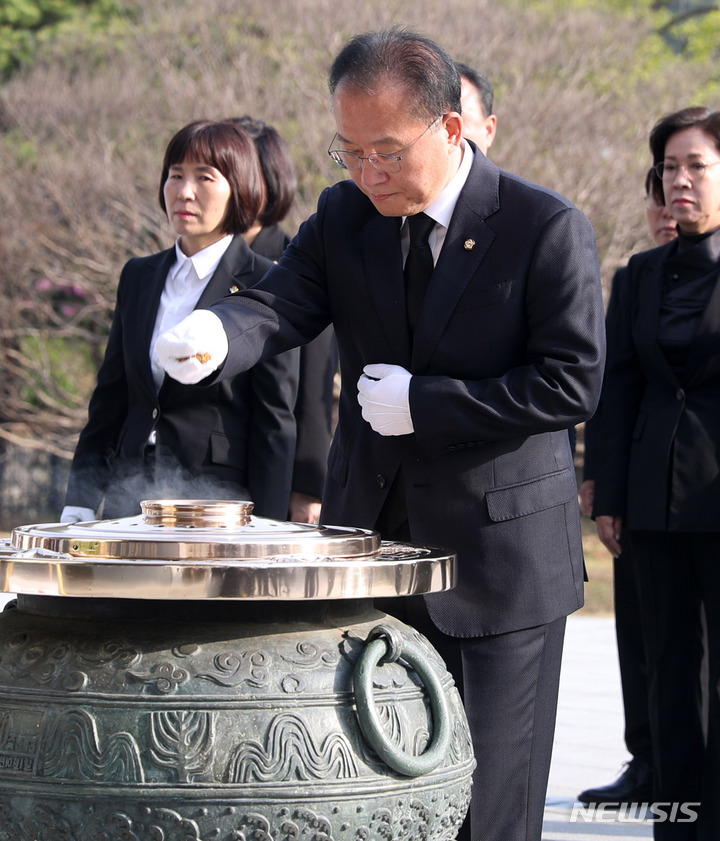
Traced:
<path fill-rule="evenodd" d="M 225 361 L 228 341 L 222 321 L 210 310 L 194 310 L 155 342 L 160 364 L 180 383 L 194 385 Z"/>

